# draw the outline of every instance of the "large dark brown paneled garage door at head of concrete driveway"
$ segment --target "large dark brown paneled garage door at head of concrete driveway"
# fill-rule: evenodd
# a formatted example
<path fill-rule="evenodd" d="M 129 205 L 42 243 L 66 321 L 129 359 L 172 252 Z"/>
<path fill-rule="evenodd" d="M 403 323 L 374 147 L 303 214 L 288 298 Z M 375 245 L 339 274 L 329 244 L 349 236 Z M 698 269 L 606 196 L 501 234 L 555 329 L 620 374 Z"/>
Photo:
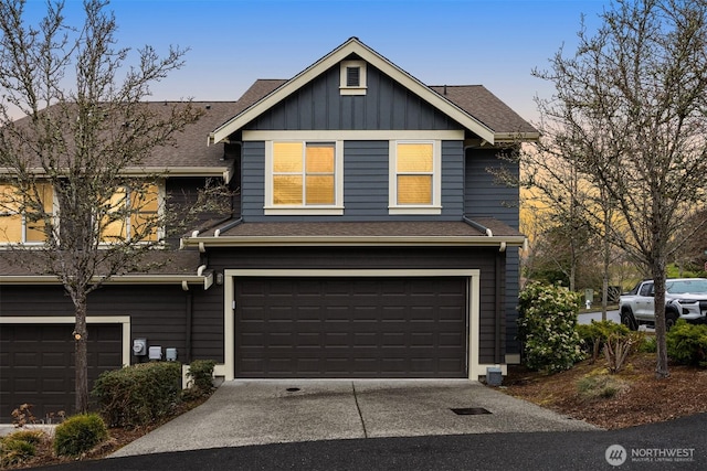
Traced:
<path fill-rule="evenodd" d="M 465 377 L 465 278 L 236 278 L 236 377 Z"/>

